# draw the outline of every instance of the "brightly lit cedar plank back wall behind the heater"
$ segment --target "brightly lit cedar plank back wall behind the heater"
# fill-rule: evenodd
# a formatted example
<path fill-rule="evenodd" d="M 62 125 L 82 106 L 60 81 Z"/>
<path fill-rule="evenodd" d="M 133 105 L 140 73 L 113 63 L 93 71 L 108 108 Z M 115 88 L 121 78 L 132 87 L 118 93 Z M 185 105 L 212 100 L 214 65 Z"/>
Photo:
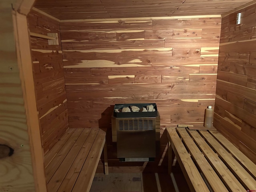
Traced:
<path fill-rule="evenodd" d="M 221 18 L 60 23 L 70 128 L 111 132 L 114 104 L 157 104 L 156 161 L 147 167 L 119 163 L 108 133 L 110 172 L 166 172 L 164 128 L 202 124 L 204 109 L 214 106 L 220 23 Z"/>

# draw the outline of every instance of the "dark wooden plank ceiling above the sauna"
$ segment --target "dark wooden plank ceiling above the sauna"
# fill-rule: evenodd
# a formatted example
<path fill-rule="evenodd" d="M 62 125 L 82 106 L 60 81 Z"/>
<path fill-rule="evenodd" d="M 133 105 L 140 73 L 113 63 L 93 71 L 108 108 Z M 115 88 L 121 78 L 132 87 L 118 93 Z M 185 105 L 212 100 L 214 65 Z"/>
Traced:
<path fill-rule="evenodd" d="M 60 20 L 220 15 L 251 0 L 36 0 Z"/>

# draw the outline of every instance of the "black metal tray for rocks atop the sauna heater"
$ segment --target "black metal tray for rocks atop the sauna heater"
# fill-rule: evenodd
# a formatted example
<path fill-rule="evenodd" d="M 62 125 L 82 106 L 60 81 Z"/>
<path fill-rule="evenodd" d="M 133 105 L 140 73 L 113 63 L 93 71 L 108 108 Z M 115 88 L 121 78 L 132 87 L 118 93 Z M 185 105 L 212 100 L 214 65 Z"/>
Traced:
<path fill-rule="evenodd" d="M 147 105 L 153 105 L 155 111 L 153 112 L 115 112 L 115 109 L 122 109 L 124 107 L 137 106 L 138 108 L 146 108 Z M 128 104 L 115 104 L 114 116 L 117 118 L 130 118 L 130 117 L 156 117 L 157 108 L 155 103 L 128 103 Z"/>

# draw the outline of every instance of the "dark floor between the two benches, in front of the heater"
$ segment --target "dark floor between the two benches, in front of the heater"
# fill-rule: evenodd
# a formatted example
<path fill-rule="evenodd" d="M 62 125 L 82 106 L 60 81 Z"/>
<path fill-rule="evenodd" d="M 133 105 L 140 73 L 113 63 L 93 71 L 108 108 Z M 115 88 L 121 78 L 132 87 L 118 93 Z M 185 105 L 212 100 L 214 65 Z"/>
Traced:
<path fill-rule="evenodd" d="M 90 192 L 190 192 L 178 162 L 173 173 L 96 173 Z"/>

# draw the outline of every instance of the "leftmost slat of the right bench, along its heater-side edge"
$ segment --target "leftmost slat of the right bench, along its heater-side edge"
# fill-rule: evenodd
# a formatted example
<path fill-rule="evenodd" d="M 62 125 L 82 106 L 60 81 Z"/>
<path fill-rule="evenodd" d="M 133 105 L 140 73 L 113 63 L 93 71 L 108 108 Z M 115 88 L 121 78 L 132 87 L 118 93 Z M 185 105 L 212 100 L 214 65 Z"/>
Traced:
<path fill-rule="evenodd" d="M 182 168 L 182 172 L 190 188 L 190 184 L 192 184 L 194 188 L 191 188 L 190 190 L 194 190 L 196 192 L 209 192 L 208 187 L 206 186 L 202 176 L 198 172 L 198 169 L 196 168 L 194 162 L 192 161 L 190 154 L 188 154 L 185 146 L 180 140 L 180 137 L 178 136 L 175 128 L 168 127 L 166 128 L 166 130 L 169 141 L 171 141 L 172 149 L 174 150 L 176 158 Z"/>

